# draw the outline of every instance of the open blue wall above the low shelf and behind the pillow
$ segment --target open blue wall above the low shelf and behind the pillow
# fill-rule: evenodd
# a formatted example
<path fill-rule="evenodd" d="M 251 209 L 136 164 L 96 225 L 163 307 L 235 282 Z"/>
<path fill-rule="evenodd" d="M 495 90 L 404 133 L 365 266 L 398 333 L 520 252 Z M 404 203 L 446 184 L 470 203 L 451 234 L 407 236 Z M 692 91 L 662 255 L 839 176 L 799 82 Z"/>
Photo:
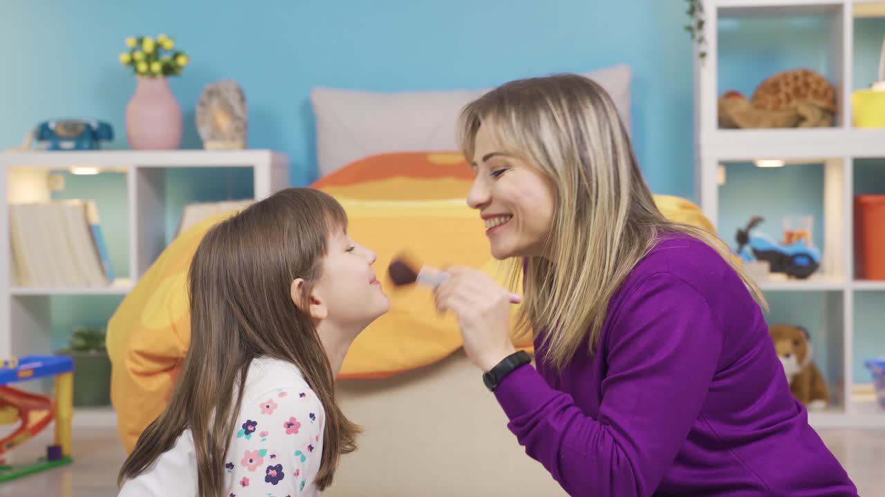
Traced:
<path fill-rule="evenodd" d="M 314 86 L 484 88 L 626 63 L 635 71 L 636 148 L 651 186 L 690 196 L 686 20 L 681 4 L 644 0 L 551 0 L 543 8 L 508 0 L 158 0 L 150 8 L 19 0 L 0 16 L 0 46 L 23 48 L 4 53 L 5 66 L 17 70 L 0 83 L 7 116 L 0 146 L 17 144 L 42 119 L 95 116 L 115 126 L 113 146 L 127 147 L 124 111 L 135 81 L 117 55 L 137 34 L 169 34 L 192 58 L 171 81 L 185 110 L 186 148 L 200 146 L 193 125 L 199 92 L 212 80 L 233 78 L 250 105 L 249 146 L 288 153 L 296 184 L 316 178 L 308 103 Z"/>

